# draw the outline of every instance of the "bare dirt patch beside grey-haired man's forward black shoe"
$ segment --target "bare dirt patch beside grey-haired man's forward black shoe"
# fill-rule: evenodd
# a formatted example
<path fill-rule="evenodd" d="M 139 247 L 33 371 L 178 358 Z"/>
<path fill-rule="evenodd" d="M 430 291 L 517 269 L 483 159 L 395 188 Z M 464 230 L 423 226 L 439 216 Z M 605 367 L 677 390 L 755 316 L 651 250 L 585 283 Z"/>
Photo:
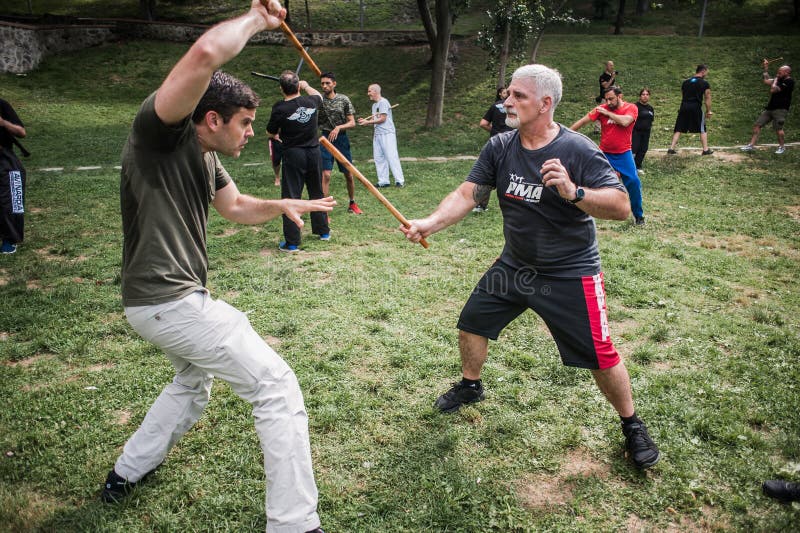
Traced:
<path fill-rule="evenodd" d="M 594 459 L 586 450 L 571 451 L 556 474 L 526 476 L 516 483 L 522 505 L 528 509 L 548 509 L 572 501 L 576 478 L 608 478 L 611 467 Z"/>

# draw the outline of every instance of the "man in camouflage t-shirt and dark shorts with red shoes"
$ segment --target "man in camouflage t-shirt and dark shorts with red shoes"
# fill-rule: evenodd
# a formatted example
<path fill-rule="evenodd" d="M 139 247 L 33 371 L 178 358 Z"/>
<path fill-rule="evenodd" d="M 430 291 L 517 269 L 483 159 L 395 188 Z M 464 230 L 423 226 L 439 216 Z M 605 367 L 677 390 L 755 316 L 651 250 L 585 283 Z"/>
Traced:
<path fill-rule="evenodd" d="M 319 127 L 322 130 L 322 135 L 331 141 L 352 163 L 353 156 L 350 153 L 350 138 L 347 136 L 347 130 L 356 127 L 356 108 L 350 98 L 336 92 L 336 76 L 333 72 L 324 72 L 320 78 L 320 83 L 324 95 L 322 107 L 319 110 Z M 331 171 L 333 170 L 333 156 L 324 146 L 320 145 L 319 149 L 322 153 L 322 194 L 328 196 L 331 185 Z M 353 175 L 338 161 L 336 165 L 339 167 L 339 171 L 344 174 L 347 194 L 350 196 L 347 212 L 360 215 L 361 209 L 356 203 L 356 185 L 353 182 Z"/>

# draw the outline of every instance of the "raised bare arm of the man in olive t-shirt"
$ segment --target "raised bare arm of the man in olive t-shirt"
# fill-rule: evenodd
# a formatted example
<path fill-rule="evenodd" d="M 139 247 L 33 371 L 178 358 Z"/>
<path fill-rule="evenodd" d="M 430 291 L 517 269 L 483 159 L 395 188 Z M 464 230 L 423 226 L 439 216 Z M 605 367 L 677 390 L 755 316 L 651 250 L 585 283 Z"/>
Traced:
<path fill-rule="evenodd" d="M 189 116 L 208 88 L 215 70 L 236 57 L 262 30 L 277 28 L 286 16 L 278 0 L 264 7 L 253 0 L 246 14 L 217 24 L 204 33 L 167 75 L 156 93 L 156 114 L 165 124 Z"/>

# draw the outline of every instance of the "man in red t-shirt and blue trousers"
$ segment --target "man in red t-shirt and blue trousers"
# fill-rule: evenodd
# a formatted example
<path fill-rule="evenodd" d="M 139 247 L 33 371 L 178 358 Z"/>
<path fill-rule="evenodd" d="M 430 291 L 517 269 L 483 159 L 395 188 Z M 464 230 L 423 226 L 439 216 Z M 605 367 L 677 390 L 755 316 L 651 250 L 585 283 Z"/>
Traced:
<path fill-rule="evenodd" d="M 631 135 L 639 110 L 635 104 L 622 99 L 622 89 L 619 87 L 609 87 L 605 99 L 605 104 L 589 111 L 570 126 L 570 129 L 578 131 L 590 122 L 600 122 L 600 150 L 625 184 L 631 200 L 634 224 L 641 226 L 644 225 L 642 183 L 636 173 L 636 163 L 631 152 Z"/>

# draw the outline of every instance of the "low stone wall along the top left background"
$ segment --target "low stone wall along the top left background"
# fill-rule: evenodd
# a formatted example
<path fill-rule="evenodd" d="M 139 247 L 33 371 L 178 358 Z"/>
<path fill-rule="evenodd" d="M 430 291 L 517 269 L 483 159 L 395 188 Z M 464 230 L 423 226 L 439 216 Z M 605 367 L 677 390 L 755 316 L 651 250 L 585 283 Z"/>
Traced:
<path fill-rule="evenodd" d="M 152 39 L 193 42 L 208 26 L 146 22 L 140 20 L 93 20 L 69 25 L 36 25 L 0 21 L 0 72 L 24 73 L 35 69 L 44 57 L 79 50 L 119 39 Z M 297 33 L 311 46 L 392 46 L 426 43 L 422 31 L 336 31 Z M 280 31 L 265 31 L 251 42 L 285 44 Z"/>

